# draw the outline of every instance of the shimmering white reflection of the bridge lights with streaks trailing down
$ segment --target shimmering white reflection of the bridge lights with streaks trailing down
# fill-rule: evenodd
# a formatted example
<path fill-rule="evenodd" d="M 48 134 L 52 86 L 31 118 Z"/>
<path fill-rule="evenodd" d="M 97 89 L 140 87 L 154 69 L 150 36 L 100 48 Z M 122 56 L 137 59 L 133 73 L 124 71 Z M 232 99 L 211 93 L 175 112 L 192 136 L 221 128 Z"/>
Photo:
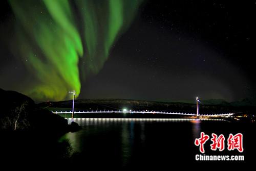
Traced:
<path fill-rule="evenodd" d="M 191 131 L 193 138 L 197 138 L 200 136 L 201 132 L 201 122 L 203 119 L 182 119 L 182 118 L 67 118 L 68 123 L 71 124 L 72 121 L 75 121 L 79 126 L 82 126 L 82 130 L 75 133 L 67 133 L 65 137 L 62 139 L 68 139 L 73 147 L 74 151 L 80 152 L 84 148 L 84 144 L 80 142 L 81 136 L 91 135 L 91 134 L 99 134 L 101 131 L 106 131 L 109 128 L 118 129 L 121 136 L 121 149 L 123 156 L 123 164 L 125 165 L 128 159 L 131 156 L 132 148 L 134 146 L 135 141 L 135 131 L 134 127 L 137 123 L 137 139 L 141 144 L 145 141 L 145 124 L 146 123 L 159 123 L 159 122 L 170 122 L 170 123 L 179 123 L 186 122 L 191 123 Z M 210 119 L 209 119 L 210 120 Z M 222 120 L 222 119 L 214 119 L 214 120 Z M 88 127 L 89 126 L 89 127 Z M 91 127 L 90 127 L 91 126 Z M 138 127 L 138 128 L 137 128 Z M 139 130 L 139 131 L 138 131 Z"/>

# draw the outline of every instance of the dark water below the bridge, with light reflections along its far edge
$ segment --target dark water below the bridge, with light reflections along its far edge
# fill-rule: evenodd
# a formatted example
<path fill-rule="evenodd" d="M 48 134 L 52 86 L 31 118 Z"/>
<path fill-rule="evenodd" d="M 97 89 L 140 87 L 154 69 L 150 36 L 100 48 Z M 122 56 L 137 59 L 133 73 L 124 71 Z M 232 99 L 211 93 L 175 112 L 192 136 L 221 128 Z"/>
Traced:
<path fill-rule="evenodd" d="M 214 120 L 106 120 L 78 119 L 82 130 L 67 133 L 61 138 L 68 140 L 76 152 L 70 162 L 75 166 L 103 168 L 169 168 L 183 164 L 252 164 L 255 161 L 255 124 L 230 123 Z M 194 144 L 200 132 L 243 134 L 244 152 L 225 150 L 213 152 L 211 141 L 205 144 L 207 155 L 244 155 L 245 161 L 196 161 L 200 154 Z"/>

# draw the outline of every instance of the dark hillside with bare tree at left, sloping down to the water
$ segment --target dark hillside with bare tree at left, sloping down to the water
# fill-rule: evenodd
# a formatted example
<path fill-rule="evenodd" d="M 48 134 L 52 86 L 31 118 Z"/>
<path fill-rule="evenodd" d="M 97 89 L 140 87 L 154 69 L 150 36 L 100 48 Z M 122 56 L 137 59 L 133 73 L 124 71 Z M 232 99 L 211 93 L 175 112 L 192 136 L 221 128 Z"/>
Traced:
<path fill-rule="evenodd" d="M 67 119 L 40 108 L 24 94 L 3 89 L 0 94 L 0 130 L 41 131 L 55 135 L 73 128 Z"/>

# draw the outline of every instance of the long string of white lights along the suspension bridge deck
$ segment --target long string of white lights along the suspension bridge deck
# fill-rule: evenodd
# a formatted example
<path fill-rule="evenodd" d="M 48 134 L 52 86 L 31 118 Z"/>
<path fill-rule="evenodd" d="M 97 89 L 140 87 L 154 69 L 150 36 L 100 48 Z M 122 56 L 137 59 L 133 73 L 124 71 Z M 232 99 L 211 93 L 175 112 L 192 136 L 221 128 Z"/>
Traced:
<path fill-rule="evenodd" d="M 56 111 L 53 112 L 54 114 L 67 114 L 67 113 L 72 113 L 72 111 Z M 195 113 L 179 113 L 179 112 L 161 112 L 161 111 L 132 111 L 132 110 L 127 110 L 127 111 L 114 111 L 114 110 L 108 110 L 108 111 L 74 111 L 74 113 L 142 113 L 142 114 L 174 114 L 174 115 L 187 115 L 187 116 L 196 116 L 197 114 Z M 199 114 L 200 116 L 231 116 L 234 113 L 220 113 L 220 114 Z"/>

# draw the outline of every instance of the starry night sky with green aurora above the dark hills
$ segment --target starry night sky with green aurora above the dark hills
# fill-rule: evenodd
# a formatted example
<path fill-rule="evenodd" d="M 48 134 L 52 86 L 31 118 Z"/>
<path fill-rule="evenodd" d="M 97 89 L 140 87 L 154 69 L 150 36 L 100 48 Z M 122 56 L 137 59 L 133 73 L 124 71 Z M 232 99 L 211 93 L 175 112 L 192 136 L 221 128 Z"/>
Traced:
<path fill-rule="evenodd" d="M 255 96 L 256 1 L 69 1 L 65 14 L 22 2 L 0 2 L 3 89 L 36 101 L 73 89 L 79 99 Z"/>

